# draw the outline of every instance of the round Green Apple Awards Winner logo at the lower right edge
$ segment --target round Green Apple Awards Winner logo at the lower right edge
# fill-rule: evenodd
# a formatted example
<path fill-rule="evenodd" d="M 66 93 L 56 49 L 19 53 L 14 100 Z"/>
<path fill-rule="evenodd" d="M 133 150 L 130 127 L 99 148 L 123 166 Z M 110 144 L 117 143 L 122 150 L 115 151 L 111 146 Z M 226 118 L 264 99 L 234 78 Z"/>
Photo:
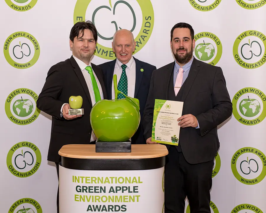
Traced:
<path fill-rule="evenodd" d="M 266 157 L 258 149 L 244 147 L 236 151 L 232 157 L 231 169 L 241 183 L 254 185 L 265 178 Z"/>

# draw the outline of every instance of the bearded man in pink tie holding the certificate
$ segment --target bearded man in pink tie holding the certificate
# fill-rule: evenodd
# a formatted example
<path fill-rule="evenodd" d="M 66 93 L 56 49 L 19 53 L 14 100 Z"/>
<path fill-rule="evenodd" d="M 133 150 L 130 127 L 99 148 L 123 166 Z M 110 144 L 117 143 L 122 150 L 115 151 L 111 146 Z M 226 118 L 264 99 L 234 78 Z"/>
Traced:
<path fill-rule="evenodd" d="M 171 30 L 175 62 L 152 75 L 144 111 L 144 135 L 151 141 L 155 99 L 183 101 L 179 145 L 166 145 L 165 212 L 184 213 L 187 196 L 191 213 L 210 213 L 214 157 L 220 143 L 217 126 L 232 113 L 222 69 L 193 57 L 194 30 L 178 23 Z"/>

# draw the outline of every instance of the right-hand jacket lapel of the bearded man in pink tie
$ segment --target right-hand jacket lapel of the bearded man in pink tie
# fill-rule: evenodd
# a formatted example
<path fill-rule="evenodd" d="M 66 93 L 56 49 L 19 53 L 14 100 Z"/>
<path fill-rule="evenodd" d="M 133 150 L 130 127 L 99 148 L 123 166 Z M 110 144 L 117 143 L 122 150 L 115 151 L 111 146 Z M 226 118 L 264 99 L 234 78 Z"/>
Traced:
<path fill-rule="evenodd" d="M 197 59 L 193 59 L 192 65 L 189 70 L 189 75 L 186 78 L 184 82 L 184 87 L 180 89 L 181 92 L 181 101 L 185 101 L 187 94 L 189 93 L 189 90 L 198 74 L 198 71 L 200 70 L 200 63 Z"/>

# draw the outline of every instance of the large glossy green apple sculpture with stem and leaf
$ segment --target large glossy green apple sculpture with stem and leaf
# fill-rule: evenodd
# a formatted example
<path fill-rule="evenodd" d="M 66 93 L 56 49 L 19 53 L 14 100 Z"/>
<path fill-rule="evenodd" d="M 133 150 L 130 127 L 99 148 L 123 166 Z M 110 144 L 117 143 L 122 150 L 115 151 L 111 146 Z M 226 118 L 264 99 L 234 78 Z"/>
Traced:
<path fill-rule="evenodd" d="M 115 99 L 98 101 L 90 112 L 90 123 L 100 141 L 127 141 L 139 127 L 140 104 L 138 99 L 128 97 L 117 89 L 116 75 L 113 83 Z M 119 93 L 126 98 L 117 99 Z"/>

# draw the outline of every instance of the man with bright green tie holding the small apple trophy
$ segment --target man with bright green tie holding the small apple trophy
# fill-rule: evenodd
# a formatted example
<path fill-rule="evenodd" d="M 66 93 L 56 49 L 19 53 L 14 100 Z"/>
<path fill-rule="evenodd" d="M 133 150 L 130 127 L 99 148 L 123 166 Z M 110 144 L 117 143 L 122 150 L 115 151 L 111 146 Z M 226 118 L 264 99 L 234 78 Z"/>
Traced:
<path fill-rule="evenodd" d="M 106 99 L 103 73 L 90 59 L 96 49 L 97 30 L 92 22 L 77 22 L 71 29 L 69 44 L 72 56 L 53 65 L 37 100 L 37 107 L 52 116 L 48 161 L 55 162 L 59 175 L 61 156 L 66 144 L 89 144 L 96 141 L 90 125 L 90 111 L 100 99 Z M 70 96 L 81 96 L 84 115 L 68 115 Z M 57 193 L 57 212 L 59 212 Z"/>

